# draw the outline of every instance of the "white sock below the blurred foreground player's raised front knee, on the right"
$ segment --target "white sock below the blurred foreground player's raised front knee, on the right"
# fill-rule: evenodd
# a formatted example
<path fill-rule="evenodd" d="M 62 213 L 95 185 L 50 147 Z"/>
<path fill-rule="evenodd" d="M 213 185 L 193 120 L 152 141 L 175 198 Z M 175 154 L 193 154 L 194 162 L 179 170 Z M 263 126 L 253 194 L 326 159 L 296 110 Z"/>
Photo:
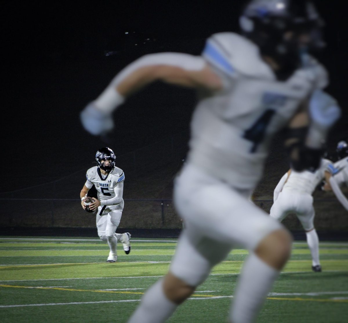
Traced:
<path fill-rule="evenodd" d="M 271 268 L 254 253 L 250 254 L 237 280 L 229 314 L 230 322 L 254 322 L 278 276 L 278 270 Z"/>

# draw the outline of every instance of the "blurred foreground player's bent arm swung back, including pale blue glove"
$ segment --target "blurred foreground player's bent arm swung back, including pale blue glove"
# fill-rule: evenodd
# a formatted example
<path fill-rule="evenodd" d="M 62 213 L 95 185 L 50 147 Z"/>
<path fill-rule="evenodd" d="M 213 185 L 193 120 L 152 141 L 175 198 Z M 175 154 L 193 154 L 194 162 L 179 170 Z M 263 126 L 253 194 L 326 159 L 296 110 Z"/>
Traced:
<path fill-rule="evenodd" d="M 125 67 L 109 86 L 81 112 L 84 128 L 99 135 L 113 128 L 111 113 L 125 98 L 154 81 L 183 87 L 220 90 L 222 81 L 200 56 L 182 53 L 145 55 Z"/>

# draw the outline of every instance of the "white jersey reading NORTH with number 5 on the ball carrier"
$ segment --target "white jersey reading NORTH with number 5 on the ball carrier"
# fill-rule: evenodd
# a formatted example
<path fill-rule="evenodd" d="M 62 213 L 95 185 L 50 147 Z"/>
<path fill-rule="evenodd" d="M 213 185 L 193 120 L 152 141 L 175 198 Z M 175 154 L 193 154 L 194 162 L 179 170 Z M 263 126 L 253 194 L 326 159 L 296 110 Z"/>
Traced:
<path fill-rule="evenodd" d="M 105 176 L 101 173 L 100 168 L 95 166 L 87 170 L 86 177 L 87 181 L 85 185 L 88 188 L 92 188 L 93 185 L 95 186 L 98 193 L 98 200 L 100 201 L 115 197 L 115 188 L 117 189 L 123 186 L 123 181 L 125 180 L 124 172 L 118 167 L 115 167 L 112 172 Z M 123 189 L 118 191 L 123 192 Z"/>

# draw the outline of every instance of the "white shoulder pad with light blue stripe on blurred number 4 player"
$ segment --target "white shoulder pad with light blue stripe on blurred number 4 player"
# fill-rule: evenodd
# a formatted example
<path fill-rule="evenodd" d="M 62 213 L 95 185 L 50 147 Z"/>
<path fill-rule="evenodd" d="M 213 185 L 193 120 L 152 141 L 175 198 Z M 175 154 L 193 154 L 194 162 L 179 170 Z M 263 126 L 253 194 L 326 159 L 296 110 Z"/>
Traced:
<path fill-rule="evenodd" d="M 242 74 L 255 78 L 275 79 L 271 68 L 261 59 L 259 48 L 236 33 L 213 34 L 207 39 L 202 56 L 232 77 Z"/>

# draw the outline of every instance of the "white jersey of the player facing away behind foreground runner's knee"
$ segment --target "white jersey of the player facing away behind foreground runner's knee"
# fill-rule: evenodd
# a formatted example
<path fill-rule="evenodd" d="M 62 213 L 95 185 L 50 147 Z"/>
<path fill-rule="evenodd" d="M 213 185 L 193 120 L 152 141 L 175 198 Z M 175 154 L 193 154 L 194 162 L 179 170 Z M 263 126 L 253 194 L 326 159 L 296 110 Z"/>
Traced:
<path fill-rule="evenodd" d="M 331 168 L 332 162 L 328 159 L 322 159 L 319 168 L 315 172 L 308 170 L 296 172 L 292 169 L 282 191 L 290 189 L 296 192 L 313 194 L 317 185 L 324 179 L 325 171 L 331 172 Z"/>

